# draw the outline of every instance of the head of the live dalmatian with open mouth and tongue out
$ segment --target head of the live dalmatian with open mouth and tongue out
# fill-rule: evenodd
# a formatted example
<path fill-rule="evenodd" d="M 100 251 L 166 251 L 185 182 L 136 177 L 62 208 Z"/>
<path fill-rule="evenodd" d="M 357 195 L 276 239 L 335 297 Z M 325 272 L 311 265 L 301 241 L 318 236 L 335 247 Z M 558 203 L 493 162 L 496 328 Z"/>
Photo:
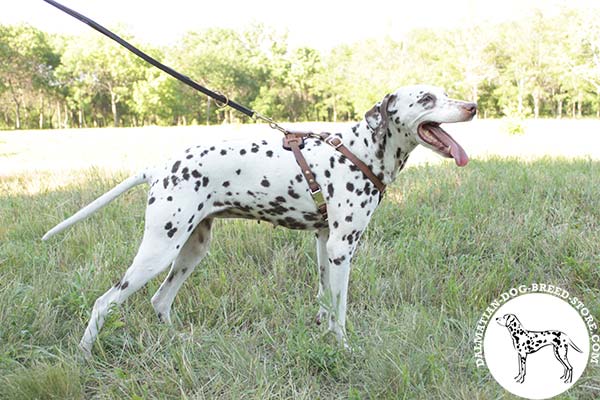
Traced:
<path fill-rule="evenodd" d="M 385 96 L 367 111 L 365 120 L 380 134 L 386 134 L 393 124 L 398 132 L 444 157 L 454 158 L 462 167 L 469 157 L 440 125 L 470 121 L 476 113 L 475 103 L 450 99 L 438 87 L 417 85 L 402 87 Z"/>

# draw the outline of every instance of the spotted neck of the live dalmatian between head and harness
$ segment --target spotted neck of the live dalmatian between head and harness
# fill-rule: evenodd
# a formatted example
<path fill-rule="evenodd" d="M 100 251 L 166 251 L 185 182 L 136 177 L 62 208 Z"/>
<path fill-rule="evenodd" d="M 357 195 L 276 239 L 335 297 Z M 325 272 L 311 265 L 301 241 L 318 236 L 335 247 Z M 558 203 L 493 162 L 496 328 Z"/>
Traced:
<path fill-rule="evenodd" d="M 386 185 L 396 179 L 410 152 L 417 147 L 405 128 L 390 123 L 387 132 L 378 134 L 364 119 L 343 132 L 342 140 Z"/>

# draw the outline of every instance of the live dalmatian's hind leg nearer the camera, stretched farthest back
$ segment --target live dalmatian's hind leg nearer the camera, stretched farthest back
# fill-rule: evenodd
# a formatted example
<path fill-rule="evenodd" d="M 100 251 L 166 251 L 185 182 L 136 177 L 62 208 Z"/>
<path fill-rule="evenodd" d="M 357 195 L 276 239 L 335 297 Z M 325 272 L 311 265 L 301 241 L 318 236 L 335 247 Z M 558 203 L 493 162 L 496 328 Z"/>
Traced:
<path fill-rule="evenodd" d="M 147 218 L 146 221 L 148 220 Z M 167 231 L 162 225 L 146 226 L 138 253 L 123 279 L 100 296 L 94 304 L 92 316 L 79 343 L 87 357 L 91 355 L 94 341 L 112 307 L 123 303 L 146 282 L 164 271 L 177 256 L 177 246 L 182 246 L 188 236 L 189 233 L 182 229 L 170 228 Z"/>

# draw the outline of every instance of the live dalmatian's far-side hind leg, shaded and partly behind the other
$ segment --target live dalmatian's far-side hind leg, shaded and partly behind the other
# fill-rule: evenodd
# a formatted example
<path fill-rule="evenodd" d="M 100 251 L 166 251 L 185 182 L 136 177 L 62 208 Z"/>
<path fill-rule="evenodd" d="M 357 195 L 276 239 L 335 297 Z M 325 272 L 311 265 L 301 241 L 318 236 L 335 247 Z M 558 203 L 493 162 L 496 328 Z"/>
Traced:
<path fill-rule="evenodd" d="M 161 322 L 171 323 L 171 306 L 177 292 L 208 253 L 212 221 L 212 218 L 206 218 L 194 229 L 173 262 L 169 275 L 152 297 L 152 306 Z"/>

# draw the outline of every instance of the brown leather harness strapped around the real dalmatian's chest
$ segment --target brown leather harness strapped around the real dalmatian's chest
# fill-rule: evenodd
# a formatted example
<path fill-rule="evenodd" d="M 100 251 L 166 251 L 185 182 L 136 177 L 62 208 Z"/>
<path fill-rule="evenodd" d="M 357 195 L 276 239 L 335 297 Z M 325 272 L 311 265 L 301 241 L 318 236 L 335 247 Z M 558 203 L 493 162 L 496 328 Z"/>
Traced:
<path fill-rule="evenodd" d="M 356 157 L 345 145 L 342 139 L 338 136 L 330 133 L 313 133 L 313 132 L 290 132 L 288 131 L 283 138 L 283 148 L 290 150 L 300 169 L 302 175 L 308 183 L 310 194 L 317 205 L 319 213 L 323 216 L 323 220 L 327 221 L 327 202 L 321 191 L 321 186 L 317 183 L 315 175 L 311 171 L 311 168 L 306 162 L 306 158 L 302 155 L 302 148 L 304 147 L 304 139 L 313 138 L 317 140 L 323 140 L 325 143 L 333 147 L 335 150 L 342 153 L 350 162 L 352 162 L 362 173 L 367 177 L 373 185 L 379 190 L 379 199 L 381 200 L 383 193 L 385 192 L 385 184 L 371 171 L 371 169 Z"/>

